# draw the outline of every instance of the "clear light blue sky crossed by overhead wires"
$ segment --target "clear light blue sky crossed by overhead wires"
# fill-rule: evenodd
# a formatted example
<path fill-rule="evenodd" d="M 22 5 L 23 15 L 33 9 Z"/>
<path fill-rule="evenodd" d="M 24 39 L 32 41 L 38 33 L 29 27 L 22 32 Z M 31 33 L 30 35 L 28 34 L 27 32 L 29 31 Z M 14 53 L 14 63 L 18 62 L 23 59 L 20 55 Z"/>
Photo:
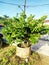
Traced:
<path fill-rule="evenodd" d="M 19 5 L 24 4 L 24 0 L 0 0 L 0 1 L 19 4 Z M 26 0 L 26 4 L 27 5 L 49 4 L 49 0 Z M 23 9 L 23 6 L 22 6 L 22 9 Z M 0 16 L 8 15 L 10 17 L 13 17 L 20 12 L 22 12 L 22 10 L 18 6 L 0 3 Z M 26 8 L 26 14 L 28 16 L 30 14 L 33 14 L 35 15 L 36 18 L 40 18 L 43 15 L 48 15 L 47 19 L 49 19 L 49 5 L 38 6 L 38 7 L 28 7 Z"/>

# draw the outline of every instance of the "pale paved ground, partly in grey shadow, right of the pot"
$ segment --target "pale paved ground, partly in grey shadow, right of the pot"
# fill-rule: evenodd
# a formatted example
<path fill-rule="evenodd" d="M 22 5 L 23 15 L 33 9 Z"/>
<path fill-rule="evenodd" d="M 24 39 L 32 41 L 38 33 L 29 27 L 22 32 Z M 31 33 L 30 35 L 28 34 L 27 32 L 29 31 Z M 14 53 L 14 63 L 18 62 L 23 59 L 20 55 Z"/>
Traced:
<path fill-rule="evenodd" d="M 39 40 L 37 44 L 32 46 L 32 50 L 40 54 L 49 56 L 49 41 Z"/>

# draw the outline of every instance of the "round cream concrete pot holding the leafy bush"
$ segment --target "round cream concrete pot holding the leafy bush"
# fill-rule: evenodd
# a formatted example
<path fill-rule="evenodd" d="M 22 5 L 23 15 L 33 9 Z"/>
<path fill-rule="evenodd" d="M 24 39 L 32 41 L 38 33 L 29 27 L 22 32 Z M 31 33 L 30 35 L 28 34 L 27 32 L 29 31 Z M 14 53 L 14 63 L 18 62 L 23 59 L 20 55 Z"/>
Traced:
<path fill-rule="evenodd" d="M 16 46 L 16 55 L 19 56 L 20 58 L 28 58 L 31 54 L 31 46 L 21 48 L 18 45 Z"/>

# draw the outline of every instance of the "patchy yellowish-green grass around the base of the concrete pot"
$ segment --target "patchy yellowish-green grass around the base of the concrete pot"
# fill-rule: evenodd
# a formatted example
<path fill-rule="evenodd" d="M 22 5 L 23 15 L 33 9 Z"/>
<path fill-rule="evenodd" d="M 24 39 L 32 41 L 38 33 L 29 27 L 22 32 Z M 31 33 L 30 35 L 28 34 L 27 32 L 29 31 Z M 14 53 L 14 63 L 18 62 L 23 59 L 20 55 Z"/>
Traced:
<path fill-rule="evenodd" d="M 0 49 L 0 65 L 42 65 L 42 62 L 38 53 L 33 52 L 26 63 L 25 59 L 16 56 L 16 47 L 8 46 Z"/>

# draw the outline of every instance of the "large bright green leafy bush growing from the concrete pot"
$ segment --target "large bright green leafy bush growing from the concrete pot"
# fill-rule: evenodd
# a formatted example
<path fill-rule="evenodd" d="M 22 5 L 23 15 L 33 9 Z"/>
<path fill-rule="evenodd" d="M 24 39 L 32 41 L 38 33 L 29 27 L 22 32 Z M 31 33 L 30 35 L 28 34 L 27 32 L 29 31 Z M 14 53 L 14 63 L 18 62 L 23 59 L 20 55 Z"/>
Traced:
<path fill-rule="evenodd" d="M 43 25 L 46 17 L 43 16 L 36 20 L 32 15 L 27 18 L 24 13 L 21 13 L 18 18 L 6 18 L 3 22 L 2 33 L 8 44 L 15 40 L 18 42 L 30 40 L 31 43 L 36 43 L 42 33 L 47 33 L 46 27 Z"/>

